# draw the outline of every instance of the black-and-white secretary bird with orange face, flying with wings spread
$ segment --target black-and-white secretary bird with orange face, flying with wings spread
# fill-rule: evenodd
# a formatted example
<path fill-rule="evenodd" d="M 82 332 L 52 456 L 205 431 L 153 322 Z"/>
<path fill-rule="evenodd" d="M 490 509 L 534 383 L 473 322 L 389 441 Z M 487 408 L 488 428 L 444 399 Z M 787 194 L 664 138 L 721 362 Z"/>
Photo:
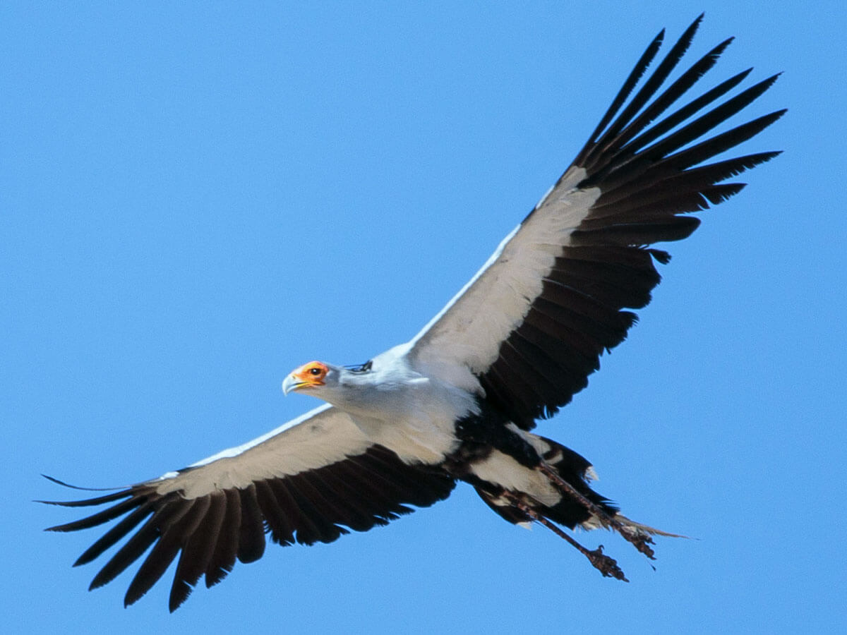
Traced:
<path fill-rule="evenodd" d="M 591 489 L 589 461 L 532 429 L 584 389 L 602 353 L 635 323 L 631 310 L 650 301 L 656 263 L 670 258 L 653 245 L 689 236 L 700 224 L 691 213 L 743 189 L 727 179 L 778 154 L 707 163 L 785 111 L 715 132 L 777 75 L 728 97 L 748 69 L 690 96 L 730 38 L 668 80 L 701 19 L 642 82 L 664 31 L 650 42 L 570 167 L 412 340 L 359 366 L 308 362 L 283 381 L 285 394 L 313 395 L 324 405 L 127 489 L 44 501 L 108 505 L 50 527 L 69 532 L 116 521 L 75 562 L 124 541 L 91 588 L 146 555 L 126 591 L 131 605 L 178 557 L 173 611 L 201 577 L 211 587 L 236 559 L 260 558 L 267 538 L 329 543 L 444 500 L 460 481 L 507 522 L 549 527 L 604 576 L 626 580 L 602 547 L 588 549 L 566 530 L 605 528 L 652 558 L 652 537 L 673 534 L 623 516 Z"/>

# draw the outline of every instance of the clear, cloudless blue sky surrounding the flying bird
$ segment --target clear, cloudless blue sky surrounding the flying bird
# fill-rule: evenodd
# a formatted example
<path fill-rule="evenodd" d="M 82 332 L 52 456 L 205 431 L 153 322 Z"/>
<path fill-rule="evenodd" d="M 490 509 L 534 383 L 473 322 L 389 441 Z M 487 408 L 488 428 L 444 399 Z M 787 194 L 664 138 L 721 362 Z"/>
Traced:
<path fill-rule="evenodd" d="M 524 3 L 522 3 L 524 4 Z M 3 3 L 0 613 L 10 632 L 822 632 L 844 627 L 840 3 Z M 567 167 L 650 38 L 700 11 L 710 75 L 784 71 L 782 149 L 673 244 L 627 342 L 540 425 L 662 539 L 601 578 L 460 487 L 269 548 L 173 616 L 86 591 L 72 493 L 317 405 L 280 381 L 407 340 Z M 169 577 L 169 574 L 166 574 Z"/>

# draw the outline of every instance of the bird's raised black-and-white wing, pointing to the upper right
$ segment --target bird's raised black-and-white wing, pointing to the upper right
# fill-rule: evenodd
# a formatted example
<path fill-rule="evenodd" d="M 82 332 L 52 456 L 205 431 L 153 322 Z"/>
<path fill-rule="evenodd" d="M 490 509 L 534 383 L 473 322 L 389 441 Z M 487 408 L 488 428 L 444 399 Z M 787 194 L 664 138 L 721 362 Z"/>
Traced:
<path fill-rule="evenodd" d="M 750 69 L 670 110 L 699 85 L 732 38 L 660 88 L 700 25 L 689 26 L 628 99 L 662 44 L 650 42 L 588 143 L 556 185 L 464 289 L 412 340 L 413 363 L 438 373 L 465 367 L 521 428 L 550 417 L 588 384 L 603 351 L 618 345 L 659 283 L 662 240 L 690 235 L 688 215 L 726 201 L 724 183 L 775 157 L 761 152 L 703 163 L 779 119 L 770 113 L 708 136 L 767 90 L 777 75 L 714 105 Z M 700 111 L 706 110 L 705 113 Z"/>

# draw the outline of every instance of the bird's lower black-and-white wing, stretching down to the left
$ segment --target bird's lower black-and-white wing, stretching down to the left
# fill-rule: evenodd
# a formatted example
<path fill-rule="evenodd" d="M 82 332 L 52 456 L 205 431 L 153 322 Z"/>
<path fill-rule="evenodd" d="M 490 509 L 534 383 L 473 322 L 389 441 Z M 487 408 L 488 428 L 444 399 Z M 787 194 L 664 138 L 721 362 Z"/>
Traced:
<path fill-rule="evenodd" d="M 75 562 L 86 564 L 130 536 L 90 588 L 111 582 L 152 546 L 125 605 L 146 594 L 179 555 L 170 589 L 173 611 L 200 577 L 211 587 L 236 558 L 260 558 L 268 531 L 282 545 L 329 543 L 348 533 L 345 527 L 364 532 L 413 511 L 407 505 L 443 500 L 453 484 L 438 467 L 404 463 L 369 442 L 345 412 L 323 406 L 179 472 L 89 500 L 44 502 L 113 504 L 49 529 L 69 532 L 121 519 Z"/>

